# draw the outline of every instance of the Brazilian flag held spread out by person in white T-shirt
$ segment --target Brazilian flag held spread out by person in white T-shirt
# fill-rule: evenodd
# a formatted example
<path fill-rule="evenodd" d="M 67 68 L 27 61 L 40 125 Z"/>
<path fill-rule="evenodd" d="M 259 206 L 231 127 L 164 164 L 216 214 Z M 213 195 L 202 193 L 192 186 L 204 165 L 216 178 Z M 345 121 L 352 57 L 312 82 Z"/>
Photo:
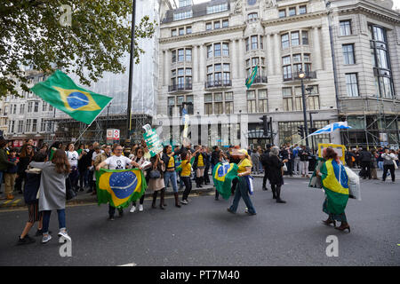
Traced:
<path fill-rule="evenodd" d="M 139 169 L 96 171 L 97 201 L 112 207 L 125 208 L 145 193 L 146 180 Z"/>

